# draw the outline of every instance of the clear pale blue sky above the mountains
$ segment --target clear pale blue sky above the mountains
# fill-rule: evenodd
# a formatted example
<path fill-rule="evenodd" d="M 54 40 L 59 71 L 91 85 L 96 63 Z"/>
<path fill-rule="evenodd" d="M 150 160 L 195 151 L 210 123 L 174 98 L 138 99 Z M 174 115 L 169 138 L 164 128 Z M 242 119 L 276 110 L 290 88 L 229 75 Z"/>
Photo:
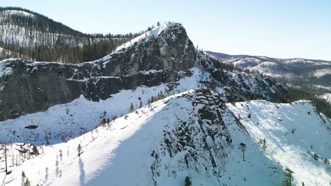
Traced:
<path fill-rule="evenodd" d="M 1 0 L 88 33 L 182 23 L 194 45 L 226 54 L 331 60 L 331 0 Z"/>

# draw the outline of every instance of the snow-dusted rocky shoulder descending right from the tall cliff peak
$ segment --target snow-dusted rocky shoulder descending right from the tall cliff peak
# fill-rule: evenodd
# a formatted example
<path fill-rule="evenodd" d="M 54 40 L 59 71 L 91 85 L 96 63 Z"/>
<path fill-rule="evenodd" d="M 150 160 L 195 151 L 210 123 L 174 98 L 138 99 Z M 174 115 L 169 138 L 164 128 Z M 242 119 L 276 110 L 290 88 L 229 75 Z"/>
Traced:
<path fill-rule="evenodd" d="M 228 102 L 266 99 L 279 102 L 275 95 L 284 94 L 288 89 L 268 77 L 252 75 L 237 70 L 216 68 L 204 54 L 197 54 L 199 67 L 210 73 L 211 81 L 204 82 L 208 87 L 221 94 Z"/>

